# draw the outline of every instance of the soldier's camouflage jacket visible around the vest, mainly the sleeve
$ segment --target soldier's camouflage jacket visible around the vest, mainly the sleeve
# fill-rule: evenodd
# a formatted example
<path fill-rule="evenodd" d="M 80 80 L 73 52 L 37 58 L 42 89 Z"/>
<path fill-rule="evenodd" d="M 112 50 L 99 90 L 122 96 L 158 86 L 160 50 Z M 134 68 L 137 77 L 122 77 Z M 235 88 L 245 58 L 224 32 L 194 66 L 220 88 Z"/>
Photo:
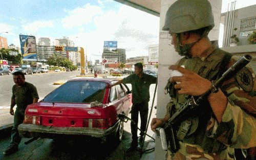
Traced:
<path fill-rule="evenodd" d="M 213 51 L 213 53 L 218 52 L 223 51 L 220 49 Z M 200 62 L 205 59 L 201 59 Z M 238 56 L 232 56 L 227 68 L 238 59 Z M 194 68 L 190 68 L 190 70 L 195 72 Z M 198 144 L 180 141 L 180 149 L 175 154 L 168 150 L 167 159 L 234 159 L 234 148 L 246 149 L 256 146 L 256 80 L 251 67 L 247 65 L 236 76 L 225 81 L 221 89 L 228 98 L 222 121 L 218 123 L 212 114 L 207 120 L 205 130 L 199 134 L 217 140 L 224 148 L 220 152 L 209 153 Z M 171 98 L 167 105 L 167 115 L 170 114 L 172 106 L 176 105 L 175 103 L 177 103 L 177 99 Z"/>

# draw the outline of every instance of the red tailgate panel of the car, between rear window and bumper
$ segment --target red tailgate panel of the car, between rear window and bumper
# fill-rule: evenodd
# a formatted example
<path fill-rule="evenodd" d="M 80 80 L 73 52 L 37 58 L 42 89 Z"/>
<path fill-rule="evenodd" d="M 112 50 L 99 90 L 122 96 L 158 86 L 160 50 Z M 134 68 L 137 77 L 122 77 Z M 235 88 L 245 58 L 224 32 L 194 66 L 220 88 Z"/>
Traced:
<path fill-rule="evenodd" d="M 28 105 L 24 123 L 54 127 L 106 129 L 117 122 L 114 107 L 91 107 L 88 103 L 38 102 Z"/>

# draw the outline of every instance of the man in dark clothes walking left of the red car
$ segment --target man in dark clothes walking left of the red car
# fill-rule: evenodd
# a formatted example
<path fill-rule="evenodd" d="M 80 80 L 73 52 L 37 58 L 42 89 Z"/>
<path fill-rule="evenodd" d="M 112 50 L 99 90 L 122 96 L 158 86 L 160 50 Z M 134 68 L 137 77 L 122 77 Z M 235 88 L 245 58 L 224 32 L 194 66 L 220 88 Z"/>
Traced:
<path fill-rule="evenodd" d="M 36 103 L 39 99 L 36 87 L 25 81 L 25 75 L 22 72 L 15 72 L 13 74 L 13 81 L 15 85 L 12 87 L 10 114 L 14 116 L 14 124 L 11 132 L 11 143 L 4 151 L 6 155 L 18 150 L 18 144 L 22 139 L 18 133 L 18 125 L 23 123 L 27 105 Z M 17 107 L 14 113 L 13 107 L 15 105 Z"/>

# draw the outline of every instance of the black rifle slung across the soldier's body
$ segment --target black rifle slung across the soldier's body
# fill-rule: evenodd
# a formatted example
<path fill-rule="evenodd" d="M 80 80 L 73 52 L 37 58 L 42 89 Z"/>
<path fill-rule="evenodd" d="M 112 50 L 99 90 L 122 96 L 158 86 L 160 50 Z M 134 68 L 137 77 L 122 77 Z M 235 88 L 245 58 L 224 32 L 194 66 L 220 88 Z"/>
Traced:
<path fill-rule="evenodd" d="M 185 116 L 188 114 L 189 111 L 195 110 L 200 103 L 205 100 L 209 94 L 211 93 L 217 93 L 219 90 L 219 87 L 223 84 L 224 81 L 230 79 L 233 75 L 237 74 L 246 64 L 250 62 L 252 57 L 250 55 L 244 55 L 241 57 L 236 63 L 234 63 L 228 70 L 222 74 L 222 77 L 220 77 L 218 80 L 212 82 L 212 85 L 210 88 L 201 96 L 199 97 L 191 97 L 189 98 L 181 107 L 178 109 L 172 117 L 167 121 L 167 123 L 164 126 L 164 132 L 163 129 L 160 129 L 160 138 L 161 141 L 164 141 L 164 134 L 166 134 L 166 141 L 167 142 L 161 142 L 163 149 L 167 149 L 166 145 L 170 145 L 170 151 L 173 153 L 177 152 L 179 150 L 179 141 L 176 138 L 176 131 L 173 128 L 173 126 L 178 126 L 181 119 L 184 119 Z M 161 132 L 163 133 L 161 135 Z"/>

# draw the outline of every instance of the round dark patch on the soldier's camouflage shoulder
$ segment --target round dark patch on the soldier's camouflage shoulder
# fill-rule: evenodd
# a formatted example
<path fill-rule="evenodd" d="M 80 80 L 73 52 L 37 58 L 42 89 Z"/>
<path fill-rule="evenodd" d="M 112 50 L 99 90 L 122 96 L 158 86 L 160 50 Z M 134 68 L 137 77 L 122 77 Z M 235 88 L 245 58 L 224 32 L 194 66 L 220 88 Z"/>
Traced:
<path fill-rule="evenodd" d="M 251 92 L 253 89 L 253 78 L 247 67 L 243 67 L 235 76 L 239 86 L 246 92 Z"/>

